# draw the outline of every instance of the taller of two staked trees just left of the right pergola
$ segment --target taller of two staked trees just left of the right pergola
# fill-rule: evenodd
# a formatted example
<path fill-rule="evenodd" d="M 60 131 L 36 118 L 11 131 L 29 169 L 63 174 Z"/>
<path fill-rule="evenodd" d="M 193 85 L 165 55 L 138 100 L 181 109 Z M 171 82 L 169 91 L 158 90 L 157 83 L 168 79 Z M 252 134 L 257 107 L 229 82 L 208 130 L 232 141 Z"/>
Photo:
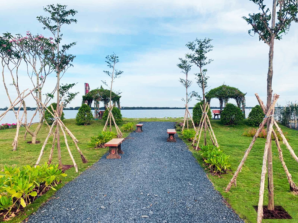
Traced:
<path fill-rule="evenodd" d="M 205 39 L 198 39 L 196 38 L 193 42 L 188 42 L 186 46 L 188 49 L 190 49 L 192 52 L 186 54 L 186 58 L 190 60 L 190 62 L 194 63 L 200 68 L 200 74 L 202 80 L 204 80 L 203 77 L 203 71 L 202 67 L 210 64 L 213 60 L 207 59 L 206 54 L 210 51 L 212 51 L 213 46 L 210 44 L 212 39 L 205 38 Z M 203 91 L 203 103 L 204 103 L 204 110 L 206 109 L 206 100 L 205 100 L 205 84 L 204 81 L 202 81 L 202 91 Z M 207 132 L 207 122 L 205 120 L 204 122 L 204 145 L 207 145 L 207 139 L 206 139 L 206 132 Z"/>

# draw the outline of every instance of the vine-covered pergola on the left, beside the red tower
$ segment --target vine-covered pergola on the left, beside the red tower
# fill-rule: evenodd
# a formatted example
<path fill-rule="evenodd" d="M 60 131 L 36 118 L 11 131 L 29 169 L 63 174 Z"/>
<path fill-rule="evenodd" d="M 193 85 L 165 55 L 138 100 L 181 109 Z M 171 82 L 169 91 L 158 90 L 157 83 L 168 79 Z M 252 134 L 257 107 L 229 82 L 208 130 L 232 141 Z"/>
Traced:
<path fill-rule="evenodd" d="M 117 95 L 116 93 L 112 92 L 112 101 L 113 103 L 117 103 L 117 107 L 120 110 L 120 95 Z M 106 108 L 106 105 L 110 102 L 110 90 L 103 89 L 102 86 L 97 89 L 93 89 L 89 91 L 87 95 L 83 95 L 83 101 L 82 103 L 85 103 L 87 101 L 87 104 L 91 107 L 92 103 L 94 101 L 94 118 L 98 118 L 99 113 L 99 106 L 100 102 L 103 102 L 104 107 Z"/>

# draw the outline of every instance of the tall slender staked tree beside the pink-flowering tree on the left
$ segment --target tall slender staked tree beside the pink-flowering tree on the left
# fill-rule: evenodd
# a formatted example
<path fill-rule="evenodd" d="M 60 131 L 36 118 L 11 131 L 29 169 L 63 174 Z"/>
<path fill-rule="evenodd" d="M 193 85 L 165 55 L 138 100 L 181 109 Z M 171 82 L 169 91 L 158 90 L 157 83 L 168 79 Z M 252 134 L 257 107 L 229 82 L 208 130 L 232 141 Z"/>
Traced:
<path fill-rule="evenodd" d="M 61 105 L 60 105 L 60 79 L 66 72 L 66 70 L 72 66 L 72 61 L 75 59 L 75 56 L 72 54 L 67 54 L 69 48 L 74 46 L 76 43 L 70 43 L 67 45 L 60 44 L 62 40 L 61 27 L 65 24 L 77 23 L 76 19 L 69 18 L 69 16 L 74 16 L 76 10 L 66 10 L 66 5 L 54 4 L 47 5 L 44 7 L 44 11 L 50 14 L 50 17 L 47 16 L 38 16 L 37 20 L 44 25 L 44 29 L 48 29 L 53 34 L 53 41 L 55 43 L 55 48 L 47 51 L 47 59 L 51 63 L 52 67 L 55 70 L 57 75 L 57 108 L 56 112 L 58 117 L 61 114 Z M 57 138 L 57 149 L 58 149 L 58 161 L 59 167 L 62 167 L 61 161 L 61 147 L 60 147 L 60 124 L 56 122 L 56 138 Z"/>

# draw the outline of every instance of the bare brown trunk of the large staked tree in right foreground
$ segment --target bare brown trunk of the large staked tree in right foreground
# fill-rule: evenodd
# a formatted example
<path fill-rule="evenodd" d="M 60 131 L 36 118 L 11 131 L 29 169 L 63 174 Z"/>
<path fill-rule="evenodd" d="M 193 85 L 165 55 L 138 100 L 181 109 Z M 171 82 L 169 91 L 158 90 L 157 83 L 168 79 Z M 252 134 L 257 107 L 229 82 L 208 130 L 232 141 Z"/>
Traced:
<path fill-rule="evenodd" d="M 271 28 L 275 27 L 275 13 L 276 13 L 276 0 L 273 0 L 272 5 L 272 20 L 271 20 Z M 267 110 L 269 109 L 272 101 L 272 76 L 273 76 L 273 49 L 274 49 L 274 34 L 271 34 L 271 40 L 269 44 L 269 67 L 268 67 L 268 76 L 267 76 Z M 272 114 L 274 114 L 274 109 L 272 110 Z M 268 126 L 270 125 L 271 118 L 267 120 L 267 134 L 270 129 Z M 270 134 L 271 136 L 271 134 Z M 272 145 L 271 141 L 268 146 L 268 210 L 274 211 L 274 186 L 273 186 L 273 165 L 272 165 Z"/>

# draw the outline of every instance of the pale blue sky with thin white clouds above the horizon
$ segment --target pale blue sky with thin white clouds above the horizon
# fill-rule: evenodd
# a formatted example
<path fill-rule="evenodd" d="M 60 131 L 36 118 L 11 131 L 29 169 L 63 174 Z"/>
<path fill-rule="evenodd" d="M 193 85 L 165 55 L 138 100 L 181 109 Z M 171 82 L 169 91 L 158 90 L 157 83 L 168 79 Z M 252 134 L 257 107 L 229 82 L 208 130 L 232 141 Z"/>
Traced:
<path fill-rule="evenodd" d="M 266 1 L 272 7 L 272 1 Z M 78 11 L 77 23 L 62 26 L 63 43 L 77 42 L 69 53 L 76 55 L 74 67 L 69 68 L 62 84 L 77 83 L 73 88 L 79 95 L 69 106 L 80 106 L 84 83 L 91 89 L 110 81 L 103 70 L 109 69 L 105 56 L 117 54 L 122 70 L 113 84 L 114 91 L 121 91 L 121 106 L 183 107 L 185 88 L 179 78 L 185 78 L 177 67 L 179 57 L 189 52 L 185 44 L 196 38 L 212 39 L 213 51 L 207 54 L 213 61 L 206 65 L 209 89 L 226 84 L 237 87 L 246 94 L 246 106 L 255 106 L 258 93 L 266 101 L 269 47 L 259 37 L 248 34 L 251 28 L 242 16 L 257 13 L 258 7 L 249 0 L 10 0 L 1 2 L 0 33 L 26 35 L 43 34 L 50 37 L 36 16 L 47 15 L 43 7 L 48 4 L 66 4 Z M 280 95 L 278 103 L 296 101 L 298 70 L 298 24 L 292 23 L 290 31 L 274 45 L 274 73 L 272 89 Z M 190 87 L 200 95 L 195 83 L 193 66 Z M 5 74 L 7 83 L 11 82 Z M 25 70 L 19 72 L 20 90 L 32 88 Z M 56 83 L 53 74 L 47 78 L 44 93 Z M 8 84 L 7 84 L 8 85 Z M 13 86 L 8 86 L 16 98 Z M 208 91 L 208 89 L 207 89 Z M 9 106 L 3 83 L 0 83 L 0 107 Z M 55 99 L 54 99 L 55 100 Z M 54 102 L 53 100 L 53 102 Z M 235 103 L 235 100 L 229 100 Z M 197 103 L 193 99 L 190 106 Z M 34 107 L 28 96 L 27 106 Z M 36 105 L 35 105 L 36 106 Z M 219 106 L 217 99 L 211 106 Z"/>

